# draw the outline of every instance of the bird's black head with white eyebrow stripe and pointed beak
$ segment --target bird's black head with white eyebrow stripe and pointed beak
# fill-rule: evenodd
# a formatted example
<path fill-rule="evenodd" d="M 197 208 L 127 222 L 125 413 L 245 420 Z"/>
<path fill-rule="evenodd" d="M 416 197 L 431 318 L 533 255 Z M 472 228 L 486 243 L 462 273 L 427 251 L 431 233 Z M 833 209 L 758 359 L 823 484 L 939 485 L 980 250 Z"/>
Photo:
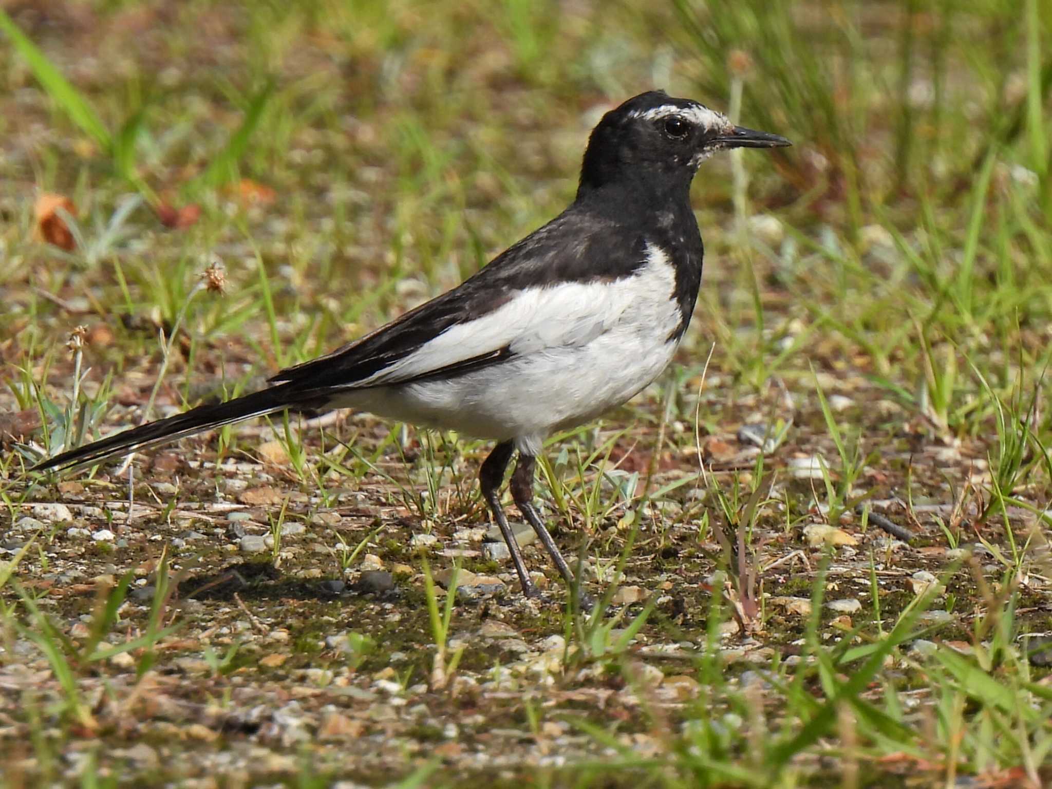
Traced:
<path fill-rule="evenodd" d="M 592 130 L 581 188 L 618 181 L 689 186 L 697 166 L 716 151 L 791 144 L 778 135 L 735 126 L 691 99 L 650 90 L 611 109 Z"/>

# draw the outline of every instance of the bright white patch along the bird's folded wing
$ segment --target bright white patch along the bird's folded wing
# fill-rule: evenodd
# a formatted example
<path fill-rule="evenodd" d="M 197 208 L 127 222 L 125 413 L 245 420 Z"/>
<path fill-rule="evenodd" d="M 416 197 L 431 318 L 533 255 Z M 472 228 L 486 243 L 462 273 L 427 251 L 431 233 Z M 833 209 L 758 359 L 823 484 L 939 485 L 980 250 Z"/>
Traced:
<path fill-rule="evenodd" d="M 582 347 L 625 322 L 668 315 L 674 290 L 675 271 L 668 256 L 648 244 L 646 263 L 631 277 L 526 288 L 492 312 L 450 326 L 351 388 L 397 384 L 504 347 L 515 356 Z M 674 326 L 668 328 L 672 330 Z"/>

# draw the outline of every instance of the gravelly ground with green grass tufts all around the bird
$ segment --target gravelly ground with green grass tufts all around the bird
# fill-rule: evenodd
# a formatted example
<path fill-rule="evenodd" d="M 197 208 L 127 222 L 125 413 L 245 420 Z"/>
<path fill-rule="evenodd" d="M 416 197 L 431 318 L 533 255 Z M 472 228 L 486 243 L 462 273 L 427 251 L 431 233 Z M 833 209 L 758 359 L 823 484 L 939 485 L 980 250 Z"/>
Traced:
<path fill-rule="evenodd" d="M 20 544 L 0 557 L 0 787 L 1052 780 L 1048 669 L 1025 655 L 1052 631 L 1048 0 L 45 5 L 0 12 L 0 427 L 41 423 L 0 453 L 0 537 Z M 180 444 L 174 472 L 150 452 L 130 479 L 25 473 L 456 285 L 571 199 L 599 112 L 650 87 L 794 146 L 705 164 L 705 281 L 675 370 L 548 445 L 544 511 L 598 612 L 559 605 L 553 575 L 549 608 L 441 599 L 432 568 L 494 571 L 456 554 L 478 545 L 454 534 L 488 525 L 485 447 L 465 437 L 292 416 L 263 426 L 286 465 L 256 462 L 259 431 L 224 429 Z M 35 237 L 34 190 L 73 200 L 75 249 Z M 190 203 L 179 228 L 143 209 Z M 200 279 L 217 261 L 223 292 Z M 758 456 L 734 438 L 748 423 L 772 439 Z M 800 476 L 811 457 L 821 476 Z M 179 600 L 235 559 L 209 507 L 239 481 L 279 490 L 250 525 L 272 532 L 280 579 Z M 17 525 L 42 502 L 74 523 Z M 858 502 L 913 547 L 862 533 Z M 310 529 L 281 537 L 291 522 Z M 814 522 L 862 544 L 827 557 L 801 541 Z M 423 532 L 440 541 L 427 564 L 408 545 Z M 402 598 L 311 596 L 363 552 L 410 566 Z M 945 590 L 914 594 L 918 571 Z M 115 582 L 74 591 L 96 575 Z M 823 605 L 852 596 L 847 621 Z M 515 635 L 479 635 L 486 622 Z M 346 649 L 326 645 L 344 631 Z M 673 704 L 676 676 L 696 685 Z M 309 742 L 246 733 L 252 708 L 302 717 Z M 177 709 L 224 733 L 177 736 Z M 315 742 L 332 710 L 364 733 Z M 121 755 L 140 743 L 155 767 Z M 240 777 L 209 766 L 248 747 L 268 755 Z"/>

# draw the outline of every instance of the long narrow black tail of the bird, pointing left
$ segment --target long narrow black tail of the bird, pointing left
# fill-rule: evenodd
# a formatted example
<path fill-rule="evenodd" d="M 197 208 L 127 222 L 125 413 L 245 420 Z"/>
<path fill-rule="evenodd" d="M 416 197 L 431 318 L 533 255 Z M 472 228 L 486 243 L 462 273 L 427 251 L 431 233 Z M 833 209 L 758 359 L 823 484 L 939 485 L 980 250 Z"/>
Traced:
<path fill-rule="evenodd" d="M 109 436 L 94 444 L 87 444 L 77 449 L 70 449 L 54 458 L 38 463 L 31 470 L 41 471 L 46 468 L 73 468 L 97 463 L 113 456 L 128 454 L 139 449 L 164 444 L 185 436 L 193 436 L 202 430 L 208 430 L 231 422 L 241 422 L 252 417 L 263 417 L 287 408 L 312 407 L 317 399 L 304 397 L 303 389 L 290 385 L 272 386 L 251 394 L 228 400 L 218 405 L 200 405 L 184 413 L 178 413 L 167 419 L 159 419 L 130 430 Z"/>

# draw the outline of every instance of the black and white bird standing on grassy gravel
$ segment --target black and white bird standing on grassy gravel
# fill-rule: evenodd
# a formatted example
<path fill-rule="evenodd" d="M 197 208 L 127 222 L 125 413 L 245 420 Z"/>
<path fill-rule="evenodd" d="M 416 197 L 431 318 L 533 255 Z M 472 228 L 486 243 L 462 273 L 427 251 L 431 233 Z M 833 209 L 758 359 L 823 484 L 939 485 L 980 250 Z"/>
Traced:
<path fill-rule="evenodd" d="M 501 507 L 511 495 L 560 573 L 572 573 L 533 505 L 545 437 L 621 405 L 668 365 L 702 281 L 690 207 L 699 165 L 720 150 L 789 145 L 653 90 L 591 133 L 573 203 L 460 286 L 270 386 L 110 436 L 36 469 L 94 464 L 286 409 L 355 408 L 491 439 L 479 473 L 527 595 L 537 594 Z"/>

